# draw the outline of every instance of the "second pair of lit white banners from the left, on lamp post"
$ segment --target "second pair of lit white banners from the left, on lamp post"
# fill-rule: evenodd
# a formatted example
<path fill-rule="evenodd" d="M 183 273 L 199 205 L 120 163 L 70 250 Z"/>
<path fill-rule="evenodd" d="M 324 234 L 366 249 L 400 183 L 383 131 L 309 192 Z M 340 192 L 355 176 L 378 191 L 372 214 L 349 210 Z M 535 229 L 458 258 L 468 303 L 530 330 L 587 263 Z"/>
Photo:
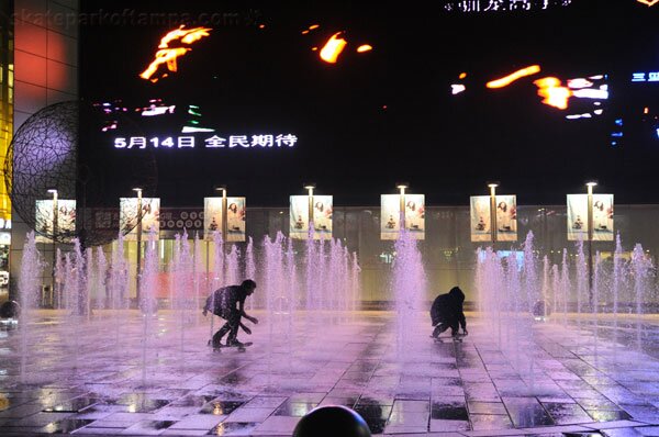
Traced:
<path fill-rule="evenodd" d="M 137 198 L 120 198 L 119 226 L 126 233 L 124 240 L 137 240 Z M 153 236 L 152 236 L 153 229 Z M 160 199 L 142 198 L 142 240 L 158 240 L 160 233 Z"/>

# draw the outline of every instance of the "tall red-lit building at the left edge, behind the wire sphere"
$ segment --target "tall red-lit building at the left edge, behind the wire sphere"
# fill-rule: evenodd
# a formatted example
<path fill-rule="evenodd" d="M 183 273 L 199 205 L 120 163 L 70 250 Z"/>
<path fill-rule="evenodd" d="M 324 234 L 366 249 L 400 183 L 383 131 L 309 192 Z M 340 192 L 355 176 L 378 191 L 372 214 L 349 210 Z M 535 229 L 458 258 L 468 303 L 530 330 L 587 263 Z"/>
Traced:
<path fill-rule="evenodd" d="M 15 133 L 41 109 L 78 99 L 78 0 L 13 0 L 2 2 L 3 13 L 2 68 L 7 71 L 9 90 L 2 83 L 1 135 Z M 7 26 L 7 41 L 4 27 Z M 11 29 L 13 27 L 13 33 Z M 12 37 L 13 36 L 13 37 Z M 7 53 L 4 53 L 7 47 Z M 8 67 L 4 67 L 4 60 Z M 13 61 L 13 66 L 12 66 Z M 12 79 L 13 72 L 13 79 Z M 3 76 L 4 78 L 4 76 Z M 13 98 L 10 97 L 13 91 Z M 7 96 L 7 99 L 5 99 Z M 12 114 L 12 115 L 10 115 Z M 9 146 L 9 138 L 0 138 L 0 150 Z M 5 145 L 7 144 L 7 145 Z M 5 150 L 7 148 L 4 148 Z M 4 168 L 4 171 L 8 171 Z M 11 220 L 11 250 L 9 250 L 9 290 L 15 291 L 22 248 L 27 226 L 21 217 L 9 213 L 9 203 L 0 191 L 0 214 Z M 47 198 L 44 193 L 44 198 Z M 7 202 L 7 203 L 4 203 Z M 2 247 L 0 246 L 0 254 Z M 52 269 L 52 248 L 44 251 L 44 260 Z M 44 277 L 44 281 L 51 274 Z"/>

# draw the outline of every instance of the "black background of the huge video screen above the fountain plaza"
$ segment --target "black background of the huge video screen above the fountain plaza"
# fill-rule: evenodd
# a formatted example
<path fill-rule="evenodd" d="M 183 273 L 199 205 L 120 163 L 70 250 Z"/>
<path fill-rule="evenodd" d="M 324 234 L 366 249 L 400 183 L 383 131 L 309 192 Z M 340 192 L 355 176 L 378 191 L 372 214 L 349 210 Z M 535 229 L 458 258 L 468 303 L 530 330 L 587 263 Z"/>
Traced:
<path fill-rule="evenodd" d="M 319 194 L 334 194 L 335 205 L 378 205 L 398 181 L 426 194 L 428 205 L 460 205 L 487 194 L 490 180 L 500 181 L 502 194 L 517 194 L 521 205 L 562 204 L 590 178 L 616 203 L 659 201 L 656 183 L 648 183 L 657 181 L 659 82 L 632 82 L 633 72 L 659 71 L 659 4 L 573 0 L 549 11 L 461 13 L 426 2 L 135 3 L 82 3 L 82 98 L 121 99 L 130 111 L 160 98 L 177 112 L 149 120 L 132 112 L 109 133 L 100 132 L 98 119 L 85 124 L 81 158 L 98 199 L 132 195 L 141 171 L 153 165 L 164 206 L 201 205 L 220 183 L 250 206 L 287 205 L 308 181 Z M 109 19 L 125 10 L 134 11 L 132 19 Z M 153 11 L 182 22 L 138 20 Z M 178 24 L 198 24 L 191 20 L 201 13 L 227 13 L 233 22 L 209 25 L 210 36 L 190 45 L 177 72 L 156 83 L 138 78 L 160 37 Z M 311 24 L 320 27 L 301 34 Z M 348 45 L 335 65 L 326 64 L 311 48 L 339 31 Z M 371 52 L 355 52 L 367 43 Z M 484 87 L 532 64 L 541 74 L 500 90 Z M 451 96 L 460 72 L 467 89 Z M 580 112 L 577 105 L 543 104 L 533 85 L 546 76 L 565 82 L 597 74 L 607 75 L 611 98 L 590 120 L 566 120 Z M 271 149 L 113 148 L 112 138 L 122 135 L 183 135 L 189 104 L 220 136 L 292 133 L 299 142 Z M 618 119 L 624 137 L 613 147 Z"/>

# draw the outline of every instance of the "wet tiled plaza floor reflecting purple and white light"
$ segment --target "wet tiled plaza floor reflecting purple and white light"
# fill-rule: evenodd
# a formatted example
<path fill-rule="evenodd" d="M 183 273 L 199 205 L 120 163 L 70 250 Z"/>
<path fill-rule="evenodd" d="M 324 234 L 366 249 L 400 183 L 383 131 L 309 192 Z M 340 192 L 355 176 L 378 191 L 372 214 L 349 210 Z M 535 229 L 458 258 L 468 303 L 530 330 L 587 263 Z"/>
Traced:
<path fill-rule="evenodd" d="M 0 434 L 290 436 L 338 404 L 373 435 L 659 436 L 655 317 L 468 314 L 462 343 L 435 343 L 421 314 L 396 346 L 388 312 L 256 315 L 244 352 L 212 351 L 220 320 L 189 312 L 4 324 Z"/>

